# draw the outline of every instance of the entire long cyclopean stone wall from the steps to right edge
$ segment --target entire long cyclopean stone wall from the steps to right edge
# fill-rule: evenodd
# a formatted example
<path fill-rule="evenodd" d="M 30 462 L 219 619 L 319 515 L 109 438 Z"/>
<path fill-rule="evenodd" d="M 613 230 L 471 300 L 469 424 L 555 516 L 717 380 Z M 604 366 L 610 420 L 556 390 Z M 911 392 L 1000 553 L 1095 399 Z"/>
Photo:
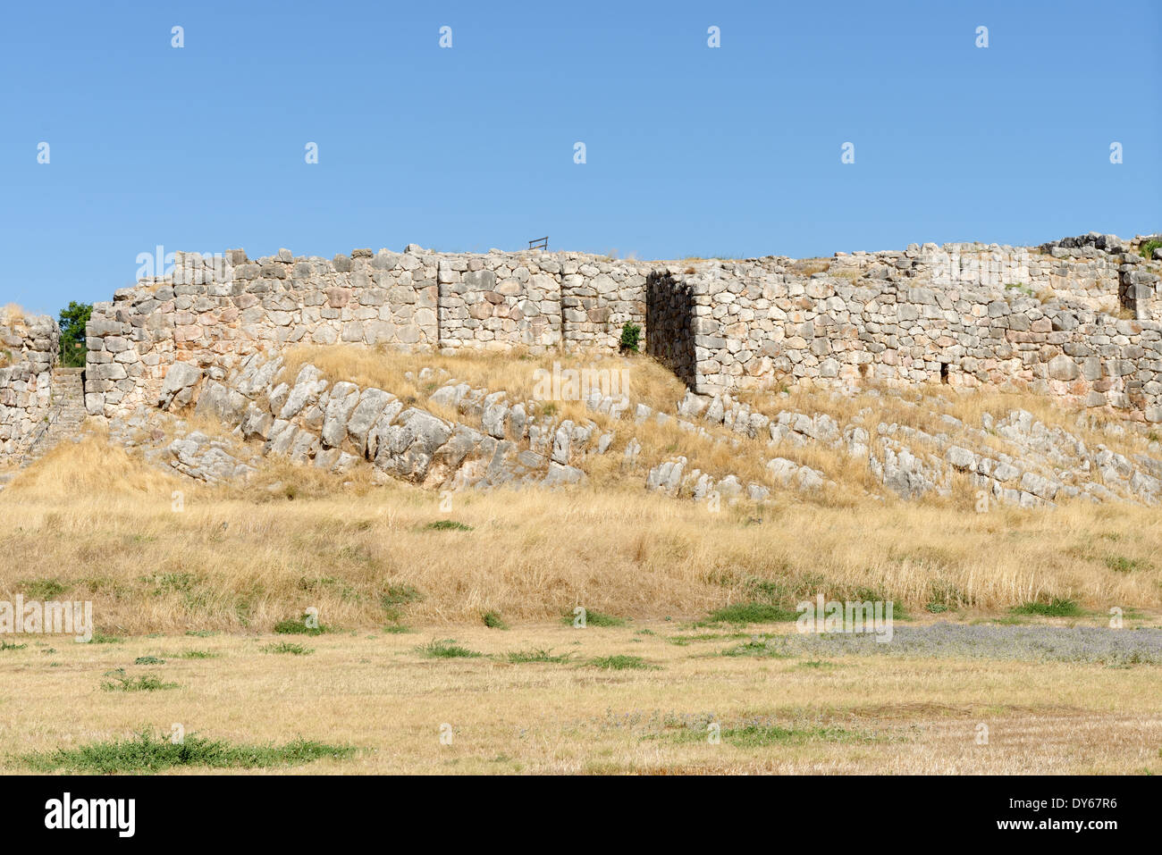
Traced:
<path fill-rule="evenodd" d="M 1162 421 L 1160 270 L 1142 239 L 1041 247 L 912 245 L 832 259 L 621 261 L 574 252 L 402 253 L 211 263 L 117 292 L 88 328 L 86 405 L 192 402 L 256 352 L 352 343 L 401 350 L 648 353 L 700 394 L 811 382 L 1028 389 Z M 171 368 L 180 364 L 177 371 Z"/>

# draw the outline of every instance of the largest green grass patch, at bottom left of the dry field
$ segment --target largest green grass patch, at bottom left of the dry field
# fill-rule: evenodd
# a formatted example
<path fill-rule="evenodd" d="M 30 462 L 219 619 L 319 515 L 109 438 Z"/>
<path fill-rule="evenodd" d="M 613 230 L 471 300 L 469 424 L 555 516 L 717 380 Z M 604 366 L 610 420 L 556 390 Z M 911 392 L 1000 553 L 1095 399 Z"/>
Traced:
<path fill-rule="evenodd" d="M 175 767 L 207 767 L 211 769 L 258 769 L 277 766 L 297 766 L 323 757 L 346 757 L 354 748 L 324 742 L 295 740 L 282 746 L 248 746 L 216 742 L 189 735 L 180 745 L 141 733 L 134 739 L 94 742 L 80 748 L 60 748 L 24 755 L 23 760 L 36 771 L 87 773 L 115 775 L 157 773 Z"/>

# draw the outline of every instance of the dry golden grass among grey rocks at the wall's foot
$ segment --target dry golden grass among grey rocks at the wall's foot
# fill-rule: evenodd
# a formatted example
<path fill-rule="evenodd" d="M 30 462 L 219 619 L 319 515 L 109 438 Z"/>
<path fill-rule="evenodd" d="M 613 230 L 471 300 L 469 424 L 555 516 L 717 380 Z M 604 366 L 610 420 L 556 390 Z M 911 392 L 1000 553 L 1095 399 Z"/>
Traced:
<path fill-rule="evenodd" d="M 670 416 L 675 415 L 677 402 L 686 393 L 682 382 L 652 358 L 610 355 L 608 352 L 550 353 L 538 357 L 528 353 L 487 352 L 440 355 L 407 354 L 387 349 L 352 345 L 300 346 L 286 354 L 281 379 L 287 382 L 293 381 L 302 366 L 308 362 L 318 367 L 332 382 L 346 380 L 360 387 L 388 389 L 409 404 L 424 407 L 436 415 L 457 422 L 465 421 L 465 417 L 450 408 L 429 402 L 429 396 L 444 382 L 421 383 L 417 380 L 421 368 L 443 368 L 456 380 L 466 382 L 473 388 L 485 388 L 489 391 L 503 389 L 508 393 L 508 400 L 514 403 L 532 401 L 537 372 L 539 369 L 552 372 L 554 362 L 559 364 L 561 369 L 595 368 L 624 372 L 622 376 L 627 379 L 629 396 L 633 403 L 645 403 L 657 412 Z M 1090 446 L 1104 444 L 1117 452 L 1132 454 L 1147 451 L 1148 444 L 1143 434 L 1134 431 L 1122 432 L 1119 436 L 1116 419 L 1099 422 L 1092 427 L 1088 425 L 1079 427 L 1076 424 L 1077 410 L 1063 408 L 1046 396 L 1028 393 L 957 391 L 938 383 L 909 389 L 867 385 L 856 394 L 832 393 L 827 389 L 812 388 L 806 383 L 794 387 L 776 386 L 779 389 L 740 391 L 736 395 L 736 400 L 772 418 L 787 410 L 806 415 L 825 412 L 832 416 L 840 427 L 859 418 L 871 433 L 880 422 L 895 422 L 931 434 L 947 433 L 951 429 L 941 418 L 945 415 L 959 418 L 969 427 L 980 429 L 984 414 L 1002 419 L 1012 410 L 1024 409 L 1050 427 L 1060 426 L 1081 437 Z M 779 394 L 780 389 L 786 389 L 788 394 Z M 825 444 L 796 447 L 789 443 L 772 447 L 766 434 L 749 439 L 715 429 L 712 425 L 703 425 L 713 434 L 712 438 L 706 438 L 682 430 L 674 419 L 666 423 L 650 418 L 643 424 L 633 424 L 630 417 L 632 412 L 621 421 L 614 419 L 589 411 L 582 401 L 535 402 L 532 415 L 552 415 L 574 422 L 593 421 L 601 431 L 615 432 L 612 453 L 587 462 L 589 476 L 597 486 L 616 486 L 624 482 L 627 475 L 644 479 L 650 466 L 662 460 L 684 457 L 688 469 L 697 468 L 716 479 L 733 474 L 743 483 L 755 482 L 774 487 L 766 462 L 772 457 L 779 455 L 820 469 L 829 481 L 842 486 L 840 490 L 822 491 L 815 498 L 819 503 L 851 506 L 853 502 L 861 500 L 865 493 L 883 491 L 866 462 L 851 457 L 841 447 L 833 448 Z M 639 458 L 641 467 L 640 470 L 626 473 L 622 465 L 621 452 L 631 437 L 637 438 L 641 445 L 643 453 Z M 1012 452 L 1012 448 L 1006 447 L 999 439 L 990 445 L 995 446 L 996 451 Z M 917 447 L 916 451 L 923 448 Z M 957 475 L 952 487 L 952 497 L 942 500 L 942 503 L 963 510 L 971 509 L 976 488 L 971 487 L 968 479 Z"/>

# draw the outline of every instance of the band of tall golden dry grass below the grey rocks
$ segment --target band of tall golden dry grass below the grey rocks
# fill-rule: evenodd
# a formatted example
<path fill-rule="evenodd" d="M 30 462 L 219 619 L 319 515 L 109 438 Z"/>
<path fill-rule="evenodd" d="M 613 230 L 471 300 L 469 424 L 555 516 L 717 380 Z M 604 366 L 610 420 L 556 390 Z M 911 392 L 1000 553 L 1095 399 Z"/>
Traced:
<path fill-rule="evenodd" d="M 451 511 L 440 501 L 290 464 L 246 487 L 198 487 L 100 438 L 69 443 L 0 493 L 0 549 L 20 556 L 0 570 L 0 598 L 53 580 L 93 601 L 101 631 L 129 634 L 268 631 L 308 606 L 336 627 L 381 626 L 382 595 L 397 585 L 423 594 L 401 616 L 423 625 L 473 624 L 486 610 L 545 620 L 578 604 L 697 618 L 753 598 L 756 582 L 787 604 L 875 591 L 913 613 L 933 599 L 962 616 L 1054 597 L 1095 619 L 1162 606 L 1150 509 L 975 513 L 787 494 L 715 513 L 632 483 L 458 494 Z M 471 531 L 428 527 L 442 519 Z"/>

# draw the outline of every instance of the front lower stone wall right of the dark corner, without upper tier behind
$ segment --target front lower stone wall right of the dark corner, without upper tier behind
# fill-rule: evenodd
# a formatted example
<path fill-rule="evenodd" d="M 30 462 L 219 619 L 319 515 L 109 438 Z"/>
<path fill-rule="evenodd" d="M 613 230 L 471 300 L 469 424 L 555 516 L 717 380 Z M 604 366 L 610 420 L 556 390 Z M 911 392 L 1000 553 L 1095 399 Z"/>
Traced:
<path fill-rule="evenodd" d="M 1028 288 L 804 276 L 777 260 L 674 281 L 694 295 L 696 391 L 937 382 L 1028 389 L 1162 421 L 1157 322 L 1042 302 Z"/>

